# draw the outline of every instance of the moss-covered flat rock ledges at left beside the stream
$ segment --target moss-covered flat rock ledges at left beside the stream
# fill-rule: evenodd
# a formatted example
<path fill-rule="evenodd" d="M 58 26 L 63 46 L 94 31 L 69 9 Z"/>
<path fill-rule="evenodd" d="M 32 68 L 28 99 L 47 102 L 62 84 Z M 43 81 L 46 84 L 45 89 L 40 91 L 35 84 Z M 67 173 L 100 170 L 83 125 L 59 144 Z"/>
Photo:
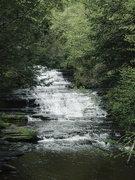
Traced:
<path fill-rule="evenodd" d="M 11 142 L 33 142 L 37 141 L 37 133 L 26 125 L 28 119 L 23 114 L 0 114 L 0 138 Z M 21 124 L 20 124 L 21 123 Z"/>

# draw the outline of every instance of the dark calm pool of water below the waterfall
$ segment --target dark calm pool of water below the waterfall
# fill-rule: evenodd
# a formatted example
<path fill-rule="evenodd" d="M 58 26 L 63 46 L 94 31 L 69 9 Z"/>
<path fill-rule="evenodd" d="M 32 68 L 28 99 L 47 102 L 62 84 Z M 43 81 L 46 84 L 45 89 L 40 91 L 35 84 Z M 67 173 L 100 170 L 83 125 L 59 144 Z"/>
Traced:
<path fill-rule="evenodd" d="M 120 159 L 85 151 L 40 151 L 28 153 L 10 163 L 18 180 L 134 180 L 135 167 Z"/>

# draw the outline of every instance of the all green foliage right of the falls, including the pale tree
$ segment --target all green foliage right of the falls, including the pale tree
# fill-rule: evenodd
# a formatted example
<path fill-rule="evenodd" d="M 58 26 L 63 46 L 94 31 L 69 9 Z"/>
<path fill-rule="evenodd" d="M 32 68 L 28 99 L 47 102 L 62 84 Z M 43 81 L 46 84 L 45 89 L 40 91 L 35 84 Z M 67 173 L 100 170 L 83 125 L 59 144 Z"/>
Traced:
<path fill-rule="evenodd" d="M 54 10 L 51 33 L 77 86 L 104 88 L 111 114 L 135 124 L 135 1 L 80 0 Z"/>

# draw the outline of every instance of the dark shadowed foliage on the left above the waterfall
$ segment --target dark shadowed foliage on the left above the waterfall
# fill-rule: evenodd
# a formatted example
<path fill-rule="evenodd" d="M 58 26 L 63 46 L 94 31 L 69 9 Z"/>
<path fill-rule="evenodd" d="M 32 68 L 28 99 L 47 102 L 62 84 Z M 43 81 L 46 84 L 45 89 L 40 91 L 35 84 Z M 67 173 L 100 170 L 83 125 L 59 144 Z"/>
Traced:
<path fill-rule="evenodd" d="M 54 0 L 1 0 L 0 2 L 0 93 L 33 83 L 32 65 L 44 57 L 48 47 L 50 11 L 61 6 Z"/>

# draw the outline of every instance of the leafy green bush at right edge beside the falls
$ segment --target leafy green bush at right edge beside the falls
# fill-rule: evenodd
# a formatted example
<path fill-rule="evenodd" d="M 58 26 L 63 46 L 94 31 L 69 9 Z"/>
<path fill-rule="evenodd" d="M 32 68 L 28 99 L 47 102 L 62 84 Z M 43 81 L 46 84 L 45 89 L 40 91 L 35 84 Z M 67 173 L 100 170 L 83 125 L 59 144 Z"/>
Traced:
<path fill-rule="evenodd" d="M 121 79 L 116 87 L 106 95 L 108 107 L 120 127 L 127 130 L 135 128 L 135 69 L 123 68 Z"/>

